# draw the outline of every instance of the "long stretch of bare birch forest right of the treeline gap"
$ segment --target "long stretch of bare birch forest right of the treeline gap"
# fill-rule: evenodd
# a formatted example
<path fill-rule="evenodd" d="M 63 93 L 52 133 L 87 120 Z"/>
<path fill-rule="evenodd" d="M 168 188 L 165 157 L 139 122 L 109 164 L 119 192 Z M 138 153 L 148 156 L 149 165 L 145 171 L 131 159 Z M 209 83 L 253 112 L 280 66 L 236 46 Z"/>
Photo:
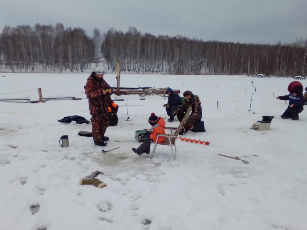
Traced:
<path fill-rule="evenodd" d="M 307 74 L 307 39 L 289 45 L 262 45 L 142 34 L 134 27 L 109 29 L 102 46 L 112 70 L 168 74 Z"/>

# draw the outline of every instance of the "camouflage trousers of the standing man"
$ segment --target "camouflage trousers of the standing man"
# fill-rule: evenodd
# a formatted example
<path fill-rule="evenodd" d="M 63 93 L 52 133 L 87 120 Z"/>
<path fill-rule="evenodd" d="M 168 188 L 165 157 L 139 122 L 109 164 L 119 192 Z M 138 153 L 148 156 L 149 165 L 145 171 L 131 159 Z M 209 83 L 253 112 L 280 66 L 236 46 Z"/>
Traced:
<path fill-rule="evenodd" d="M 108 114 L 93 115 L 91 117 L 92 122 L 92 135 L 95 144 L 100 143 L 103 140 L 104 133 L 109 126 L 109 116 Z"/>

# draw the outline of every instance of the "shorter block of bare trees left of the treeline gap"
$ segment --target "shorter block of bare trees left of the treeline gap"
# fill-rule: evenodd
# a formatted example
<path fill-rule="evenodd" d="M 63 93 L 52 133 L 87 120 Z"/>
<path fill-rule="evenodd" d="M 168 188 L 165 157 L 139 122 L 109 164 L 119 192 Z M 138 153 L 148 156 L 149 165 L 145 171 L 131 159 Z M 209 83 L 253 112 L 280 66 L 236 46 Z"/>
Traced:
<path fill-rule="evenodd" d="M 44 71 L 56 68 L 61 72 L 66 69 L 83 71 L 95 62 L 95 35 L 100 37 L 98 49 L 101 48 L 100 31 L 95 29 L 93 34 L 90 38 L 84 29 L 64 29 L 60 23 L 55 27 L 40 24 L 34 28 L 5 26 L 0 34 L 0 65 L 4 63 L 13 72 L 16 69 L 33 71 L 38 67 Z"/>

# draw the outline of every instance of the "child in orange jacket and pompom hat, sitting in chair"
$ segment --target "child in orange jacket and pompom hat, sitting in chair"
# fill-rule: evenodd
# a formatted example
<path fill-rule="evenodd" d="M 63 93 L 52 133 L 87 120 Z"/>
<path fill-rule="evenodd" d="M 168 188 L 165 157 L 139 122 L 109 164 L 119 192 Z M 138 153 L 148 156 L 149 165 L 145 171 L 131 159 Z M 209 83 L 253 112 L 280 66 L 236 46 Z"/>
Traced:
<path fill-rule="evenodd" d="M 148 119 L 149 124 L 152 126 L 149 131 L 146 132 L 143 136 L 139 136 L 139 140 L 145 140 L 138 148 L 132 148 L 139 156 L 143 153 L 150 153 L 150 144 L 156 142 L 157 134 L 165 134 L 165 121 L 161 117 L 157 117 L 155 113 L 151 113 L 151 116 Z M 162 143 L 165 140 L 165 136 L 159 136 L 157 143 Z"/>

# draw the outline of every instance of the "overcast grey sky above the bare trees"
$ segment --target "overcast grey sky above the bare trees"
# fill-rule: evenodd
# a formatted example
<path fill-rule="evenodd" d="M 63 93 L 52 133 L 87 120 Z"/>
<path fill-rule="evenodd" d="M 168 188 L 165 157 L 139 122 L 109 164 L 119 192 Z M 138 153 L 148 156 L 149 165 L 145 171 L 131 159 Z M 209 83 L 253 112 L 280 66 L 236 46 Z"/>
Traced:
<path fill-rule="evenodd" d="M 204 41 L 292 43 L 307 38 L 307 0 L 4 0 L 5 25 L 62 23 L 92 36 L 134 26 L 142 33 L 182 35 Z"/>

